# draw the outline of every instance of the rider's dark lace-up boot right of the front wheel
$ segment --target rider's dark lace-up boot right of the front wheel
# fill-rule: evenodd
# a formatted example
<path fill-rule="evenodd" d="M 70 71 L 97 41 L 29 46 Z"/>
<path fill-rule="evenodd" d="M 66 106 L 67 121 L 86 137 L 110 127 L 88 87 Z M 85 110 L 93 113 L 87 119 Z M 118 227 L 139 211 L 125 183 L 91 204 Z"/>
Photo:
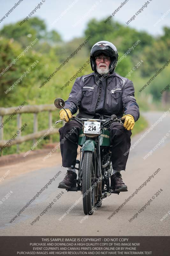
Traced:
<path fill-rule="evenodd" d="M 114 190 L 115 192 L 128 191 L 128 187 L 124 184 L 122 180 L 122 175 L 119 172 L 112 174 L 110 179 L 111 179 L 111 184 L 110 184 L 111 190 Z"/>

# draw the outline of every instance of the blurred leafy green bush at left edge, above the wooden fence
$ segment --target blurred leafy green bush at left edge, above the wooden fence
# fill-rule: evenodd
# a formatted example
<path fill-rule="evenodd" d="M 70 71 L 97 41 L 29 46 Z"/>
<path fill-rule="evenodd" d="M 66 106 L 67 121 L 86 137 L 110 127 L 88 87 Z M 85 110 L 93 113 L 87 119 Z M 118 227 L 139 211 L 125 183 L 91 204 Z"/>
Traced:
<path fill-rule="evenodd" d="M 37 81 L 40 83 L 40 81 L 48 76 L 48 70 L 46 68 L 47 60 L 31 49 L 27 53 L 24 53 L 23 50 L 21 45 L 14 42 L 13 39 L 7 40 L 1 37 L 0 104 L 2 107 L 4 105 L 6 107 L 16 105 L 21 94 L 23 99 L 29 97 L 29 89 L 32 88 L 35 83 L 37 84 Z M 18 56 L 20 57 L 17 60 Z M 14 63 L 12 63 L 12 61 L 14 61 Z M 34 62 L 36 63 L 35 67 L 33 66 Z M 22 88 L 24 88 L 24 90 L 22 90 Z"/>

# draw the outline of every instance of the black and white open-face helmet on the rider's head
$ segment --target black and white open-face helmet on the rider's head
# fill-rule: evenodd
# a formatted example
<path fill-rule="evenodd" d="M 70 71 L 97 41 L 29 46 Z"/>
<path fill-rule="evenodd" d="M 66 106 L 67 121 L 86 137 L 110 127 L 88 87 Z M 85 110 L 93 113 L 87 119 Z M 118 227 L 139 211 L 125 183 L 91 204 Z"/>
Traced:
<path fill-rule="evenodd" d="M 111 62 L 109 65 L 109 73 L 113 73 L 113 71 L 116 68 L 117 59 L 119 55 L 115 45 L 108 41 L 100 41 L 93 45 L 90 51 L 90 63 L 92 70 L 94 72 L 97 72 L 95 57 L 101 53 L 110 57 Z"/>

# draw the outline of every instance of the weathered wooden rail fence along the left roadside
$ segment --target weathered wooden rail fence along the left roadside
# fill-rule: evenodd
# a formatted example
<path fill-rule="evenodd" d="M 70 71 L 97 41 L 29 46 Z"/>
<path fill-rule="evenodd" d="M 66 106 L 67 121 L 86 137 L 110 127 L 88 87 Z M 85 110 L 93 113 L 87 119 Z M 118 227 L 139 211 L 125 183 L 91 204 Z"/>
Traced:
<path fill-rule="evenodd" d="M 35 139 L 44 135 L 46 132 L 49 131 L 51 126 L 54 125 L 54 124 L 52 124 L 52 111 L 56 110 L 54 104 L 50 104 L 50 105 L 47 105 L 47 104 L 46 105 L 26 105 L 26 106 L 22 106 L 22 107 L 21 106 L 11 107 L 11 108 L 0 108 L 0 148 L 3 148 L 3 146 L 5 146 L 6 143 L 10 140 L 10 138 L 9 138 L 9 140 L 3 140 L 4 127 L 1 128 L 1 126 L 4 122 L 4 116 L 13 114 L 17 108 L 19 108 L 19 112 L 16 114 L 17 115 L 17 130 L 19 131 L 19 128 L 21 128 L 21 126 L 22 126 L 22 114 L 23 113 L 33 113 L 34 114 L 33 133 L 27 134 L 25 136 L 21 136 L 21 132 L 19 131 L 15 140 L 12 140 L 11 144 L 7 145 L 5 147 L 10 147 L 14 144 L 17 144 L 17 151 L 19 151 L 19 144 L 20 143 L 22 143 L 24 141 L 27 141 L 27 140 L 33 140 L 33 143 L 34 143 Z M 38 131 L 37 114 L 42 112 L 42 111 L 48 111 L 48 129 Z M 53 128 L 53 130 L 50 131 L 49 134 L 57 133 L 58 130 L 59 130 L 59 128 Z"/>

